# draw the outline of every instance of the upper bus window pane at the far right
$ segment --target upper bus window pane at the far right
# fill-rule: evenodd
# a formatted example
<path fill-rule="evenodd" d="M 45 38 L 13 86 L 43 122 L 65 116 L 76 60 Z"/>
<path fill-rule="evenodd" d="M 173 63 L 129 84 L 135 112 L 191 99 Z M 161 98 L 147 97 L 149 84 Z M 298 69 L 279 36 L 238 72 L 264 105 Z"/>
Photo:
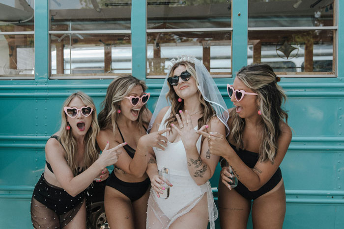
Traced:
<path fill-rule="evenodd" d="M 334 0 L 249 0 L 249 27 L 334 26 Z"/>

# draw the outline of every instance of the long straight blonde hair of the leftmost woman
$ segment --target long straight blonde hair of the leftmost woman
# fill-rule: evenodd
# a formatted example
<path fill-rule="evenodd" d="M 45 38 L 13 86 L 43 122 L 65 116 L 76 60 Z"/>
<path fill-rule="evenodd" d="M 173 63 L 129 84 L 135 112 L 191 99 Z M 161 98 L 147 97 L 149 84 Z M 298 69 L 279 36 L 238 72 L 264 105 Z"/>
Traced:
<path fill-rule="evenodd" d="M 98 152 L 96 150 L 96 136 L 99 132 L 99 126 L 97 122 L 97 112 L 95 109 L 95 105 L 93 100 L 87 96 L 83 92 L 76 92 L 70 95 L 62 105 L 62 120 L 61 120 L 61 127 L 58 131 L 61 144 L 65 150 L 65 159 L 67 161 L 68 166 L 73 171 L 74 176 L 78 174 L 78 164 L 77 164 L 77 153 L 78 153 L 78 144 L 73 137 L 72 131 L 67 130 L 67 115 L 65 114 L 63 107 L 68 106 L 68 104 L 75 98 L 78 97 L 85 103 L 86 106 L 93 108 L 92 112 L 92 122 L 91 126 L 86 132 L 84 138 L 84 159 L 83 159 L 83 170 L 86 170 L 89 166 L 91 166 L 98 157 Z"/>

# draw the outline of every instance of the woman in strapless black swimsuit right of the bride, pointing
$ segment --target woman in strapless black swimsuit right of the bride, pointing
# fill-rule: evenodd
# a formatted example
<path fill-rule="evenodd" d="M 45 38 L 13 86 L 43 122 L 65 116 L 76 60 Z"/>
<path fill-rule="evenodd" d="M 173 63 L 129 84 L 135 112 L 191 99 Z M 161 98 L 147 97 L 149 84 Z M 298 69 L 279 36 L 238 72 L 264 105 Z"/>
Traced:
<path fill-rule="evenodd" d="M 202 133 L 210 152 L 228 161 L 238 185 L 231 188 L 228 167 L 221 171 L 219 211 L 221 228 L 246 229 L 252 204 L 256 229 L 282 229 L 286 193 L 279 168 L 291 141 L 286 100 L 280 78 L 267 64 L 243 67 L 233 85 L 227 85 L 230 101 L 229 136 Z M 286 120 L 286 122 L 284 122 Z M 225 163 L 221 163 L 222 166 Z"/>

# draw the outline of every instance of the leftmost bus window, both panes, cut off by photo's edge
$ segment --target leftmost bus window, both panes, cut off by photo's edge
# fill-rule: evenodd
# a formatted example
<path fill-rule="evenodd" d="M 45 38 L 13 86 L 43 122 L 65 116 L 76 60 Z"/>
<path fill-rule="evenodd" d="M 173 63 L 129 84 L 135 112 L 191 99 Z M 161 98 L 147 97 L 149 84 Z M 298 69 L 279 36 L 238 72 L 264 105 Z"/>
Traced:
<path fill-rule="evenodd" d="M 0 79 L 33 78 L 34 0 L 0 1 Z"/>

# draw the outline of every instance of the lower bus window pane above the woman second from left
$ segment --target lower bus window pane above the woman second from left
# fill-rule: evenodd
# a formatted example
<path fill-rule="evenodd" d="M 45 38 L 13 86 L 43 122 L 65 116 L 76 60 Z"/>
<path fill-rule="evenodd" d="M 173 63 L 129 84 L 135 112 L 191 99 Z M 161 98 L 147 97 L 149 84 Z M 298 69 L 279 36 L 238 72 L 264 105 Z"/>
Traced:
<path fill-rule="evenodd" d="M 52 77 L 131 73 L 128 34 L 51 35 Z"/>

